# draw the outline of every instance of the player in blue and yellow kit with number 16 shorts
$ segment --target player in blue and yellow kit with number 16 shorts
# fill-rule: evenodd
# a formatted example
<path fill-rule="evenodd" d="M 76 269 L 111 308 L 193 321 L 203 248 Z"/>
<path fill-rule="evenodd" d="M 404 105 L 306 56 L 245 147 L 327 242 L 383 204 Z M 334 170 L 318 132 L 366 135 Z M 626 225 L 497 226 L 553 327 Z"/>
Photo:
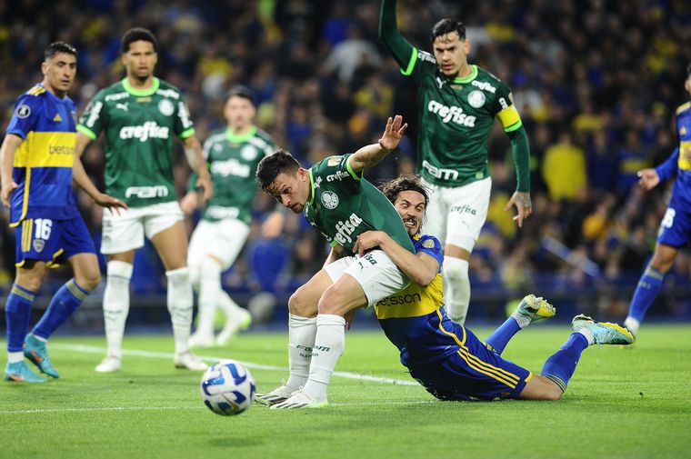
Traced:
<path fill-rule="evenodd" d="M 75 155 L 75 103 L 67 96 L 75 82 L 77 53 L 55 42 L 45 48 L 43 81 L 21 95 L 0 147 L 2 202 L 15 228 L 16 278 L 5 302 L 7 364 L 5 380 L 44 383 L 24 362 L 26 356 L 42 373 L 57 378 L 46 346 L 48 338 L 75 312 L 101 281 L 94 242 L 79 215 L 73 178 L 97 205 L 118 209 L 119 200 L 95 189 Z M 74 171 L 74 174 L 73 174 Z M 64 261 L 75 276 L 48 304 L 26 334 L 31 305 L 47 268 Z"/>

